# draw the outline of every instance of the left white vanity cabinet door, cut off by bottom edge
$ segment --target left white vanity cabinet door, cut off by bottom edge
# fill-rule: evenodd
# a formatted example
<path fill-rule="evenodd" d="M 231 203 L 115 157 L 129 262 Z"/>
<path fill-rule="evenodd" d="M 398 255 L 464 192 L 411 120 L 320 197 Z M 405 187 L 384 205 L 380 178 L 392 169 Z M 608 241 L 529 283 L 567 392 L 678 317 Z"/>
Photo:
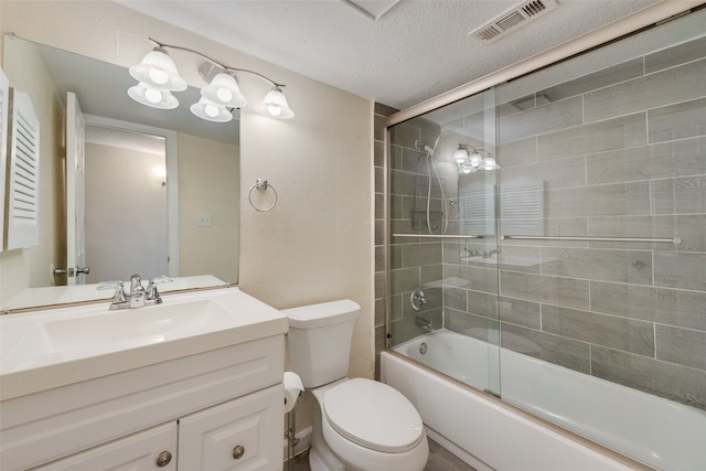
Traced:
<path fill-rule="evenodd" d="M 141 431 L 35 471 L 176 471 L 176 422 Z"/>

